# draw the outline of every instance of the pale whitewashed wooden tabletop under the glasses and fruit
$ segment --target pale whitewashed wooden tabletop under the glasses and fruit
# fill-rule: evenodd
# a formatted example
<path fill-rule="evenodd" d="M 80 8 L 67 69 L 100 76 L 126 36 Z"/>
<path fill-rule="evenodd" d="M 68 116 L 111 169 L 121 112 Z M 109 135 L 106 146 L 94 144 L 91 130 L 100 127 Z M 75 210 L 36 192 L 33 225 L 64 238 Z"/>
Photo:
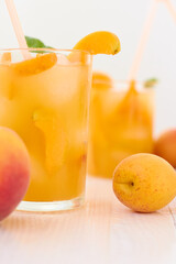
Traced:
<path fill-rule="evenodd" d="M 15 211 L 0 223 L 0 264 L 31 263 L 176 264 L 176 202 L 135 213 L 117 200 L 111 180 L 89 177 L 81 209 Z"/>

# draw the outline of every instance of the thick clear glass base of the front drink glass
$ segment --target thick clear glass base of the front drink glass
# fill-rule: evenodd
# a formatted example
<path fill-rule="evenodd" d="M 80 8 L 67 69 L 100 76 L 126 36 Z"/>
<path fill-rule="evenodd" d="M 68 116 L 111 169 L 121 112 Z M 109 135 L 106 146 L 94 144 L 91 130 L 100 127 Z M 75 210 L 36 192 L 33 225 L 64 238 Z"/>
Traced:
<path fill-rule="evenodd" d="M 78 208 L 82 206 L 84 202 L 84 196 L 63 201 L 21 201 L 16 210 L 35 212 L 64 211 Z"/>

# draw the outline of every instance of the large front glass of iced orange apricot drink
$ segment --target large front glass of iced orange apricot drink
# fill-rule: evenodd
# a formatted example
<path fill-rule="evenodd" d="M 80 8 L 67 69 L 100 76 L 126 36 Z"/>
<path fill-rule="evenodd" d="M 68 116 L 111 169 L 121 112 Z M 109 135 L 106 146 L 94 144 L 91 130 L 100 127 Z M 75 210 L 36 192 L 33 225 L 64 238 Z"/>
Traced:
<path fill-rule="evenodd" d="M 81 51 L 0 52 L 0 125 L 22 138 L 31 184 L 20 210 L 55 211 L 84 202 L 91 55 Z"/>

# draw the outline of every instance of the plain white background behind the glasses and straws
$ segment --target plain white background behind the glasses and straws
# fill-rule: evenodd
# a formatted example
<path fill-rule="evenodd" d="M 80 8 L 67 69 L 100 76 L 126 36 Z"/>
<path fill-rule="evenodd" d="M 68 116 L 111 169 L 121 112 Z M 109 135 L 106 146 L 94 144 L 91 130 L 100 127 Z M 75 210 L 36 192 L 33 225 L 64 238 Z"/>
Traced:
<path fill-rule="evenodd" d="M 170 0 L 176 8 L 176 0 Z M 125 79 L 152 0 L 14 0 L 23 30 L 47 45 L 72 48 L 86 34 L 107 30 L 121 40 L 122 51 L 116 56 L 99 55 L 94 68 L 106 70 L 116 79 Z M 18 43 L 0 0 L 0 48 Z M 165 4 L 158 10 L 150 34 L 138 78 L 156 77 L 156 133 L 176 127 L 176 23 Z"/>

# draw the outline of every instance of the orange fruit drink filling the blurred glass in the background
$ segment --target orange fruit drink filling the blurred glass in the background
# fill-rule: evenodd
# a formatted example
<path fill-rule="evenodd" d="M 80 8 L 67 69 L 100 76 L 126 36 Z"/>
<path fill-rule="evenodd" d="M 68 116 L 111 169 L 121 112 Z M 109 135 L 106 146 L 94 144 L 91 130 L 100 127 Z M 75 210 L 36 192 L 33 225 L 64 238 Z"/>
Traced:
<path fill-rule="evenodd" d="M 153 151 L 153 90 L 91 90 L 88 173 L 112 177 L 129 155 Z"/>

